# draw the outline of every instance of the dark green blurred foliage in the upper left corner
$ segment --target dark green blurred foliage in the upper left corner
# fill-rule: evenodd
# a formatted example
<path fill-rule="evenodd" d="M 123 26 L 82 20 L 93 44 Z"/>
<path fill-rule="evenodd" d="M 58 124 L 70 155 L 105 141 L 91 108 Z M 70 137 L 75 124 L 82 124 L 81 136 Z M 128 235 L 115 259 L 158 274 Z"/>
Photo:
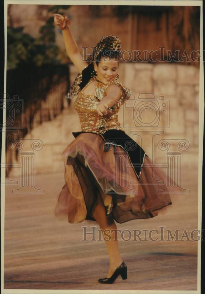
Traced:
<path fill-rule="evenodd" d="M 23 32 L 23 27 L 7 28 L 7 70 L 19 68 L 25 65 L 43 66 L 58 65 L 59 47 L 55 44 L 55 31 L 53 13 L 63 14 L 64 9 L 70 5 L 53 5 L 48 9 L 48 17 L 45 25 L 41 26 L 38 38 L 33 38 Z"/>

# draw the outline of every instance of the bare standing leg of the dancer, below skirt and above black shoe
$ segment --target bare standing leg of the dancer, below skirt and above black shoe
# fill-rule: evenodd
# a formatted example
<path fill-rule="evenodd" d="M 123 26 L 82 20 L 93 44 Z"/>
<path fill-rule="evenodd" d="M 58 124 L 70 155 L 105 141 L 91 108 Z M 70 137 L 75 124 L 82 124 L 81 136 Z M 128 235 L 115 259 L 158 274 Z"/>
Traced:
<path fill-rule="evenodd" d="M 103 236 L 104 231 L 106 229 L 108 230 L 117 230 L 116 224 L 112 218 L 112 216 L 106 216 L 105 214 L 105 206 L 103 204 L 103 199 L 100 194 L 98 194 L 98 201 L 93 209 L 93 216 L 95 220 L 98 222 L 100 229 L 102 230 Z M 117 231 L 113 232 L 106 232 L 107 235 L 109 235 L 109 239 L 107 236 L 105 236 L 105 244 L 108 249 L 109 253 L 109 259 L 110 259 L 110 268 L 107 273 L 107 278 L 110 278 L 112 274 L 114 273 L 115 269 L 122 263 L 122 258 L 120 257 L 120 251 L 118 248 L 118 241 L 117 240 Z M 115 237 L 116 236 L 116 237 Z"/>

